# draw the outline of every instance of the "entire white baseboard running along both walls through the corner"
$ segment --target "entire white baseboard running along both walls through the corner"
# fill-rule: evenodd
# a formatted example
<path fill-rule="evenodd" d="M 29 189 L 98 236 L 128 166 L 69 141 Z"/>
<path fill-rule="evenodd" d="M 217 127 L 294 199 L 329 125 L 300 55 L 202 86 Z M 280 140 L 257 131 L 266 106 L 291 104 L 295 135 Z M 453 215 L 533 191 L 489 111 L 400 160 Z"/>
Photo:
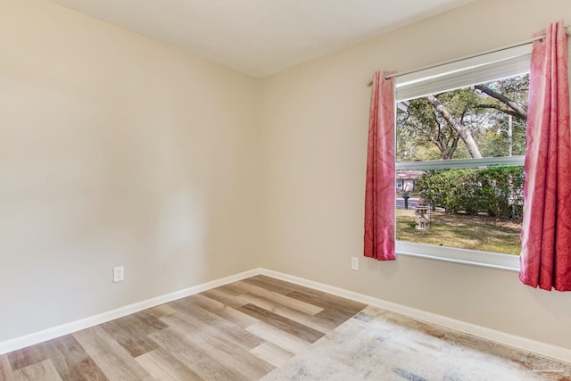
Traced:
<path fill-rule="evenodd" d="M 480 336 L 485 339 L 492 340 L 493 342 L 509 345 L 511 347 L 515 347 L 520 350 L 539 353 L 544 356 L 549 356 L 550 358 L 553 359 L 567 361 L 567 362 L 569 361 L 568 359 L 571 359 L 571 350 L 567 348 L 551 344 L 545 344 L 535 340 L 527 339 L 525 337 L 507 334 L 505 332 L 497 331 L 495 329 L 487 327 L 476 326 L 475 324 L 470 324 L 457 319 L 447 318 L 442 315 L 437 315 L 431 312 L 417 310 L 393 302 L 386 302 L 382 299 L 377 299 L 365 294 L 355 293 L 352 291 L 345 290 L 343 288 L 329 286 L 302 277 L 294 277 L 288 274 L 284 274 L 269 269 L 251 269 L 236 275 L 232 275 L 229 277 L 222 277 L 220 279 L 213 280 L 211 282 L 189 287 L 184 290 L 179 290 L 171 294 L 165 294 L 155 297 L 153 299 L 148 299 L 143 302 L 136 302 L 133 304 L 129 304 L 125 307 L 120 307 L 116 310 L 106 311 L 86 319 L 80 319 L 77 321 L 63 324 L 62 326 L 47 328 L 45 330 L 33 334 L 16 337 L 11 340 L 0 343 L 0 355 L 7 352 L 19 350 L 21 348 L 25 348 L 29 345 L 43 343 L 47 340 L 51 340 L 56 337 L 60 337 L 62 335 L 69 335 L 81 329 L 103 324 L 112 319 L 119 319 L 124 316 L 130 315 L 132 313 L 143 311 L 166 302 L 172 302 L 177 299 L 184 298 L 186 296 L 202 293 L 203 291 L 210 290 L 211 288 L 224 286 L 227 285 L 228 283 L 236 282 L 246 277 L 253 277 L 260 274 L 266 275 L 268 277 L 275 277 L 277 279 L 285 280 L 286 282 L 291 282 L 296 285 L 310 287 L 319 291 L 326 292 L 328 294 L 335 294 L 337 296 L 342 296 L 343 298 L 351 299 L 355 302 L 362 302 L 388 311 L 401 313 L 402 315 L 409 316 L 412 319 L 418 319 L 425 321 L 427 323 L 456 329 L 461 332 L 468 333 L 470 335 Z"/>

